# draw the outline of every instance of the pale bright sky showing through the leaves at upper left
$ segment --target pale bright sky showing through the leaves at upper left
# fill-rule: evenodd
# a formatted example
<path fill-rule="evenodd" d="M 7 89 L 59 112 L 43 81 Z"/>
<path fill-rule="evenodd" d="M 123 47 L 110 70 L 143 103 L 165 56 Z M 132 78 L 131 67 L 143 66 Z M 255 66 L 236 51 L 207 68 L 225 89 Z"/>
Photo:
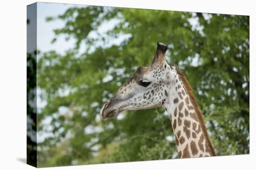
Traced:
<path fill-rule="evenodd" d="M 60 19 L 56 19 L 51 22 L 47 22 L 47 17 L 56 17 L 66 12 L 70 7 L 86 7 L 86 5 L 72 5 L 72 4 L 61 4 L 61 3 L 38 3 L 37 11 L 37 48 L 41 52 L 47 52 L 50 50 L 55 50 L 57 53 L 65 54 L 65 51 L 74 48 L 75 39 L 70 38 L 68 41 L 65 40 L 64 35 L 59 35 L 55 43 L 51 43 L 54 38 L 54 29 L 63 28 L 65 22 Z M 101 36 L 108 37 L 106 32 L 113 29 L 119 20 L 110 19 L 108 22 L 102 22 L 98 28 L 98 33 Z M 91 31 L 88 35 L 90 38 L 97 38 L 96 31 Z M 95 43 L 96 46 L 110 47 L 112 44 L 121 44 L 130 35 L 121 35 L 115 39 L 109 39 L 107 45 L 102 44 L 98 41 Z M 79 53 L 85 52 L 85 44 L 81 44 Z M 95 48 L 92 48 L 95 49 Z"/>

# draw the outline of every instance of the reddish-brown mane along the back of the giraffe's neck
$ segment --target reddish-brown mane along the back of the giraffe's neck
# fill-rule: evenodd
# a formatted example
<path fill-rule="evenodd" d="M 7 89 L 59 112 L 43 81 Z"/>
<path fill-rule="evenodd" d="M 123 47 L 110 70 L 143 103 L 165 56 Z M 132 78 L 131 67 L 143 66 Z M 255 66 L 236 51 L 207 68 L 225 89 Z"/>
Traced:
<path fill-rule="evenodd" d="M 202 113 L 201 113 L 201 110 L 199 108 L 199 105 L 197 103 L 197 100 L 195 98 L 195 95 L 194 95 L 194 92 L 193 92 L 193 88 L 191 88 L 189 82 L 187 81 L 187 77 L 183 74 L 182 70 L 176 68 L 176 71 L 179 75 L 179 78 L 180 80 L 182 81 L 183 83 L 183 86 L 185 88 L 185 90 L 187 91 L 187 94 L 189 95 L 189 100 L 191 101 L 194 109 L 195 109 L 195 115 L 199 121 L 199 124 L 201 126 L 201 129 L 202 129 L 202 133 L 204 135 L 204 138 L 205 138 L 205 143 L 206 143 L 206 146 L 209 148 L 209 152 L 212 156 L 216 156 L 216 153 L 215 153 L 215 150 L 212 146 L 212 143 L 209 139 L 209 136 L 208 136 L 208 133 L 207 133 L 207 130 L 206 130 L 206 126 L 205 126 L 205 123 L 204 123 L 204 119 L 203 119 L 203 116 L 202 116 Z"/>

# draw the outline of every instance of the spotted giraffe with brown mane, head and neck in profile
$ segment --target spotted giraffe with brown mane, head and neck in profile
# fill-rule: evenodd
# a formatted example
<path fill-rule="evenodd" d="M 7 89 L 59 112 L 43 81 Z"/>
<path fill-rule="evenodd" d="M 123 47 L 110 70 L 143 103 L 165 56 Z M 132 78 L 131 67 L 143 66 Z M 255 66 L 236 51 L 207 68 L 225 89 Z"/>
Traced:
<path fill-rule="evenodd" d="M 182 70 L 165 60 L 167 45 L 157 43 L 148 67 L 135 74 L 101 108 L 101 118 L 126 110 L 164 107 L 168 113 L 179 158 L 216 156 L 202 113 Z"/>

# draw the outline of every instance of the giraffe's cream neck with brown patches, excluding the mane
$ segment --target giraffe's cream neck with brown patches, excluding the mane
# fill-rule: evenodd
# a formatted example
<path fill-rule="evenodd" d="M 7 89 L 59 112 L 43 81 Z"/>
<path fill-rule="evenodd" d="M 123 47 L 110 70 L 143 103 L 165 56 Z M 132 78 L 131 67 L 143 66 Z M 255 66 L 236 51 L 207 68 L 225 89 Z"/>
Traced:
<path fill-rule="evenodd" d="M 206 139 L 208 134 L 205 135 L 202 132 L 202 124 L 197 118 L 189 94 L 177 73 L 169 88 L 165 109 L 173 127 L 180 158 L 213 156 Z"/>

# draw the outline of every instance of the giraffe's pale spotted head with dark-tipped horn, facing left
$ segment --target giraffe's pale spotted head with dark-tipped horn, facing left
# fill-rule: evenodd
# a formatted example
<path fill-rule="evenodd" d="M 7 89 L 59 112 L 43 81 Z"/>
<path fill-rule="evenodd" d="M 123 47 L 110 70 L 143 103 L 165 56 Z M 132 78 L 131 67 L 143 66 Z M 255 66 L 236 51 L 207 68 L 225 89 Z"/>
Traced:
<path fill-rule="evenodd" d="M 171 68 L 165 60 L 167 45 L 157 43 L 155 57 L 148 67 L 139 67 L 101 108 L 101 117 L 114 118 L 125 110 L 140 110 L 164 105 L 168 85 L 172 80 Z"/>

